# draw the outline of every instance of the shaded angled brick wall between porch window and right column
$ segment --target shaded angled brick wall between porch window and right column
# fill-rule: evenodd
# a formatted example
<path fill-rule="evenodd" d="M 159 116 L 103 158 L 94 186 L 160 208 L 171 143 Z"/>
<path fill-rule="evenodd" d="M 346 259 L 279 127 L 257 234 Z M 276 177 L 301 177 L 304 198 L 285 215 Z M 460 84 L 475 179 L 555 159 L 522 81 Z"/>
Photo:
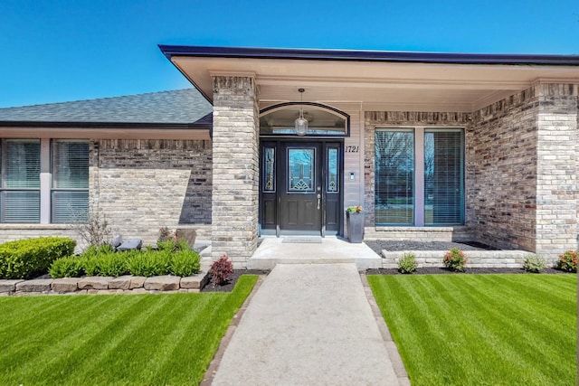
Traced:
<path fill-rule="evenodd" d="M 531 87 L 473 114 L 469 217 L 476 239 L 497 248 L 536 249 L 538 104 Z"/>

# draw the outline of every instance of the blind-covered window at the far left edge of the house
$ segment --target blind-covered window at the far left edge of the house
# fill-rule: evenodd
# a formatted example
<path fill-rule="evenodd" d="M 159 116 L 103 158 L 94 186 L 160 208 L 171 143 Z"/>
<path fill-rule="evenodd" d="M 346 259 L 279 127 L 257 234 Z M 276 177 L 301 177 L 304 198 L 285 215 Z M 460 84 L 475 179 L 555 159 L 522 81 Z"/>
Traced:
<path fill-rule="evenodd" d="M 0 222 L 39 222 L 40 140 L 5 139 L 0 161 Z"/>

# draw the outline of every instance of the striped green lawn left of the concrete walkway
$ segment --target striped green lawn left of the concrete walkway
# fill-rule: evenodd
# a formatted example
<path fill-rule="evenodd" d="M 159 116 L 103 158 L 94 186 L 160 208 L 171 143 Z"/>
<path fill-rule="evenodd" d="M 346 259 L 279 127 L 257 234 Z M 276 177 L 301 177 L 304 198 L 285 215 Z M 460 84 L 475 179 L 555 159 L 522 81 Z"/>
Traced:
<path fill-rule="evenodd" d="M 0 298 L 0 384 L 198 384 L 257 276 L 231 293 Z"/>

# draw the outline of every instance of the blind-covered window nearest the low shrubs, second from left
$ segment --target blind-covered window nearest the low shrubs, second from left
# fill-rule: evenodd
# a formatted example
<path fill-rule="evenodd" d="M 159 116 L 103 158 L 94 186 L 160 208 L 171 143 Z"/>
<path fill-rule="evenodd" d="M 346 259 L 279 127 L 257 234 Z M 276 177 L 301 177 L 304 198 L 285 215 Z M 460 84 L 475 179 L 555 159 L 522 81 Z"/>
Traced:
<path fill-rule="evenodd" d="M 87 221 L 89 214 L 89 143 L 52 141 L 53 223 Z"/>

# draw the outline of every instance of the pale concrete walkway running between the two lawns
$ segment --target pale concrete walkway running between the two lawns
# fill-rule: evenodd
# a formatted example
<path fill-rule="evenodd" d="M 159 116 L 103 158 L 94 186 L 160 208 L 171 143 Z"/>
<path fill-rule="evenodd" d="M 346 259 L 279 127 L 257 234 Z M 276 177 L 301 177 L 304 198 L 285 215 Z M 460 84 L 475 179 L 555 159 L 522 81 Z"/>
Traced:
<path fill-rule="evenodd" d="M 355 263 L 278 264 L 242 315 L 213 384 L 410 384 L 376 322 Z"/>

